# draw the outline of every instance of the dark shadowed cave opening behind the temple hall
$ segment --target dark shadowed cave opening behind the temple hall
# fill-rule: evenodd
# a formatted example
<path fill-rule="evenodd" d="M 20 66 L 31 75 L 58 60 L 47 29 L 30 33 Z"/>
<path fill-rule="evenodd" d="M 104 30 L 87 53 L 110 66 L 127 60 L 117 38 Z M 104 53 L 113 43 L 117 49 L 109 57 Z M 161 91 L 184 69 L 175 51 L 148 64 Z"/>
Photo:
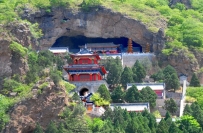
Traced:
<path fill-rule="evenodd" d="M 120 44 L 117 51 L 119 53 L 126 52 L 128 46 L 128 38 L 120 37 L 120 38 L 90 38 L 85 36 L 61 36 L 56 40 L 52 47 L 69 47 L 69 51 L 73 53 L 77 53 L 80 48 L 79 46 L 85 45 L 86 43 L 109 43 L 113 42 L 114 44 Z M 134 52 L 142 52 L 141 45 L 137 44 L 133 41 L 133 51 Z"/>

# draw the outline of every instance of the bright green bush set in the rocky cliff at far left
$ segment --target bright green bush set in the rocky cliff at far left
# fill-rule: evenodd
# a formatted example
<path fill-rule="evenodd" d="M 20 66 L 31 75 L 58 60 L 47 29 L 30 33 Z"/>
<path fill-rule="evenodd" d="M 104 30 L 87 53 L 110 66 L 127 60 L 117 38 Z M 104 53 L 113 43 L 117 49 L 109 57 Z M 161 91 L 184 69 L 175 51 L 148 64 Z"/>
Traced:
<path fill-rule="evenodd" d="M 9 45 L 9 48 L 17 53 L 18 55 L 20 55 L 21 57 L 25 57 L 27 54 L 27 48 L 23 47 L 21 44 L 17 43 L 17 42 L 12 42 Z"/>

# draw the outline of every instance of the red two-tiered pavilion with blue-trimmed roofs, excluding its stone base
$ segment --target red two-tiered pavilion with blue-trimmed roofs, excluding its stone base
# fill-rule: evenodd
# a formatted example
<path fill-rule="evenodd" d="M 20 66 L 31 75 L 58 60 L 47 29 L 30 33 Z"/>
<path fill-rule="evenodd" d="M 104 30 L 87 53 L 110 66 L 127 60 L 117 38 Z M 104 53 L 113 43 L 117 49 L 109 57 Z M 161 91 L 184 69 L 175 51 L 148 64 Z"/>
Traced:
<path fill-rule="evenodd" d="M 64 66 L 69 81 L 98 81 L 107 73 L 104 66 L 98 64 L 99 55 L 91 53 L 86 48 L 70 56 L 73 64 Z"/>

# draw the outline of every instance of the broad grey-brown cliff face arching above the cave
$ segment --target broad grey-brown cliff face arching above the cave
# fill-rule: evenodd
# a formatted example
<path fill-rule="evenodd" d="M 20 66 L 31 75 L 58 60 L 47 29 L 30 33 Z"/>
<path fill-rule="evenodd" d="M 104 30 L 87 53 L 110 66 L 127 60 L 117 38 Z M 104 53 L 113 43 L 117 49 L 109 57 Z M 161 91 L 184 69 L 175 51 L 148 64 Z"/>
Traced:
<path fill-rule="evenodd" d="M 74 11 L 64 8 L 53 8 L 50 13 L 41 10 L 33 13 L 25 10 L 22 17 L 31 22 L 38 22 L 44 33 L 40 40 L 41 49 L 51 47 L 61 36 L 100 37 L 100 38 L 132 38 L 143 49 L 147 43 L 151 51 L 160 51 L 165 44 L 165 20 L 158 20 L 159 32 L 152 33 L 140 21 L 129 18 L 121 13 L 99 7 L 91 12 Z"/>

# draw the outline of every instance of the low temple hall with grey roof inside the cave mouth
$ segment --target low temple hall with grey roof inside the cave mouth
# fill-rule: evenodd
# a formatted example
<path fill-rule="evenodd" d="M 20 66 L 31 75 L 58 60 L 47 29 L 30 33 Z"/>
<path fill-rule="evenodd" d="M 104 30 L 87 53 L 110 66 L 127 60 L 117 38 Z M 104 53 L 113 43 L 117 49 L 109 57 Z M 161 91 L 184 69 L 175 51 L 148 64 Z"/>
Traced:
<path fill-rule="evenodd" d="M 116 54 L 119 53 L 120 44 L 116 45 L 114 43 L 87 43 L 85 44 L 89 51 L 94 53 L 105 53 L 105 54 Z M 85 45 L 79 46 L 84 48 Z"/>

